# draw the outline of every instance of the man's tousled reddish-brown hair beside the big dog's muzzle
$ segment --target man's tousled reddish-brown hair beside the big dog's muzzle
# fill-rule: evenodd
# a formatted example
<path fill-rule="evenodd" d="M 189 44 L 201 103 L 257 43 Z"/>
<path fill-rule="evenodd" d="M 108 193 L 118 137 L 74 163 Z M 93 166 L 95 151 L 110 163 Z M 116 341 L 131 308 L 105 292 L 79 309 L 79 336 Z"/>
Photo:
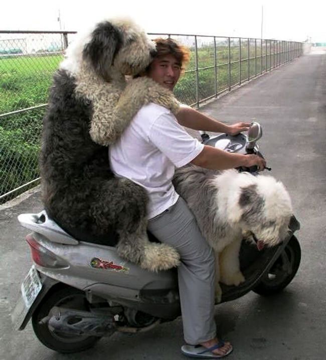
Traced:
<path fill-rule="evenodd" d="M 173 55 L 181 67 L 189 62 L 189 50 L 183 45 L 178 44 L 175 40 L 171 38 L 157 38 L 154 39 L 154 42 L 156 44 L 156 52 L 153 59 L 160 59 L 167 55 Z"/>

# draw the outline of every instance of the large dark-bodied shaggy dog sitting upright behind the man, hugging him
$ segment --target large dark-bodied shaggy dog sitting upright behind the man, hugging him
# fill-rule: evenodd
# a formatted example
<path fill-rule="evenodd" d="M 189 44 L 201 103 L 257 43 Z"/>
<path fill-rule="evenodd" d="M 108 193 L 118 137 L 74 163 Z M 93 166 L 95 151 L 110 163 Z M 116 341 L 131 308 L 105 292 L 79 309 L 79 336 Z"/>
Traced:
<path fill-rule="evenodd" d="M 179 264 L 179 254 L 148 241 L 145 190 L 114 177 L 108 148 L 148 102 L 174 113 L 172 92 L 142 77 L 154 44 L 130 21 L 105 21 L 69 46 L 54 75 L 43 119 L 40 168 L 44 206 L 81 241 L 116 246 L 152 271 Z"/>

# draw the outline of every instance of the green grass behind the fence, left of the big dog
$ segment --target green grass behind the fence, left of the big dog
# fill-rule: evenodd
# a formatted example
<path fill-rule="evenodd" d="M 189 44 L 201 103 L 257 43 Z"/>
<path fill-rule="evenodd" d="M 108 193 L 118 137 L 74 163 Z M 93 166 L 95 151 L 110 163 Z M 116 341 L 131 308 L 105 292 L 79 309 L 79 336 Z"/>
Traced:
<path fill-rule="evenodd" d="M 0 113 L 46 103 L 53 73 L 62 58 L 58 55 L 0 58 Z M 0 119 L 0 195 L 39 176 L 44 111 L 35 109 Z"/>

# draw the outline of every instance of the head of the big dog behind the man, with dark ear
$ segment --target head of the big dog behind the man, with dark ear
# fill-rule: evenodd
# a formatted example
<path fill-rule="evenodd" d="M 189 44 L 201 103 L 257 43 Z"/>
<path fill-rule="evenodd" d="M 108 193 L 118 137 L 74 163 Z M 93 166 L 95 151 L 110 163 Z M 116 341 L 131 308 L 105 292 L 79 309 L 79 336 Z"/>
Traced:
<path fill-rule="evenodd" d="M 83 49 L 83 59 L 105 80 L 112 72 L 136 75 L 151 61 L 155 45 L 131 21 L 105 21 L 96 25 Z"/>

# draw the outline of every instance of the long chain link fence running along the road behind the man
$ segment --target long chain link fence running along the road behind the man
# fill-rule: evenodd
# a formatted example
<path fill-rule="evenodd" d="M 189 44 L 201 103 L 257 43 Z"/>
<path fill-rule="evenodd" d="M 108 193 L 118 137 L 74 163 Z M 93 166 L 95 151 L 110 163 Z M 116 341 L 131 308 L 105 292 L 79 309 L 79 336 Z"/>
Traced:
<path fill-rule="evenodd" d="M 0 31 L 0 203 L 39 182 L 42 118 L 52 75 L 75 32 Z M 302 43 L 178 34 L 190 62 L 175 95 L 200 107 L 208 99 L 302 55 Z"/>

